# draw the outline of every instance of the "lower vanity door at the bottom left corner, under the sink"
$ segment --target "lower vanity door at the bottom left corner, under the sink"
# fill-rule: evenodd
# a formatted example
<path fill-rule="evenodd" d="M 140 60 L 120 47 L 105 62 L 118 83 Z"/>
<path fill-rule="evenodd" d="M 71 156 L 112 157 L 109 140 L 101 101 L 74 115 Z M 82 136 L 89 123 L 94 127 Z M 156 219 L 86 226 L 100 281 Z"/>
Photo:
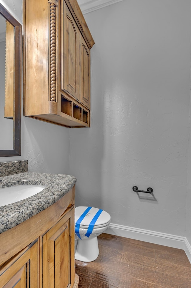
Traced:
<path fill-rule="evenodd" d="M 38 241 L 0 268 L 0 288 L 38 288 Z"/>

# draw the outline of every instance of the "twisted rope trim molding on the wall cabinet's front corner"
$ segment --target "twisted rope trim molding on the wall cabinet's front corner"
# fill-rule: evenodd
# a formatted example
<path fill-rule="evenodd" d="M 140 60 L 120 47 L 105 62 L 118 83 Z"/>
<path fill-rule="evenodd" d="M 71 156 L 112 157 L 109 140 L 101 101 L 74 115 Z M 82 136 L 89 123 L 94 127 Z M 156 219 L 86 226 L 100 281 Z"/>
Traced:
<path fill-rule="evenodd" d="M 56 102 L 56 12 L 57 0 L 50 3 L 50 101 Z"/>

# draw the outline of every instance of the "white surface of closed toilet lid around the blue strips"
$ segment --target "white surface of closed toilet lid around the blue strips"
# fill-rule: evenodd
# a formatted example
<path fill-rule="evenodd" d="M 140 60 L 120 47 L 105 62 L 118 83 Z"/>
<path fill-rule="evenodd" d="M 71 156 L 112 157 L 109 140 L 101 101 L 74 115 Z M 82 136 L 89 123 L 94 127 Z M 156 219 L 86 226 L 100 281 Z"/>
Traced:
<path fill-rule="evenodd" d="M 75 223 L 80 218 L 80 216 L 84 213 L 84 211 L 87 209 L 87 206 L 78 206 L 75 208 Z M 90 225 L 90 222 L 92 221 L 93 217 L 96 215 L 96 213 L 100 209 L 91 207 L 91 209 L 87 212 L 85 217 L 82 219 L 80 223 L 80 228 L 87 228 Z M 96 220 L 94 227 L 104 227 L 107 224 L 110 223 L 111 216 L 104 210 L 99 215 L 98 219 Z"/>

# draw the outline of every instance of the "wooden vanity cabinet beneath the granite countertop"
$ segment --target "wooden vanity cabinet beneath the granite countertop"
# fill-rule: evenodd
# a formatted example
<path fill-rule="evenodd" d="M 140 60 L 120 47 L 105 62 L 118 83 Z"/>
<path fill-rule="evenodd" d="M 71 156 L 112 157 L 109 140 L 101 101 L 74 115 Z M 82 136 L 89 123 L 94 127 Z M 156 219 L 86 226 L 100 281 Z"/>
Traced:
<path fill-rule="evenodd" d="M 0 234 L 0 288 L 78 288 L 74 193 Z"/>

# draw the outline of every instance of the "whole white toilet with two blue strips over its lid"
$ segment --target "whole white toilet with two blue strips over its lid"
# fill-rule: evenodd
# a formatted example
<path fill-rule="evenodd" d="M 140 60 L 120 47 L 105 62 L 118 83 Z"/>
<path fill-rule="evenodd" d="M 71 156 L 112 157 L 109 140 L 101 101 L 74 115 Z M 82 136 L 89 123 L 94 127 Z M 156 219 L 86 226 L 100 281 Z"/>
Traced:
<path fill-rule="evenodd" d="M 78 206 L 75 208 L 75 259 L 83 262 L 96 260 L 98 239 L 110 225 L 111 216 L 104 210 Z"/>

